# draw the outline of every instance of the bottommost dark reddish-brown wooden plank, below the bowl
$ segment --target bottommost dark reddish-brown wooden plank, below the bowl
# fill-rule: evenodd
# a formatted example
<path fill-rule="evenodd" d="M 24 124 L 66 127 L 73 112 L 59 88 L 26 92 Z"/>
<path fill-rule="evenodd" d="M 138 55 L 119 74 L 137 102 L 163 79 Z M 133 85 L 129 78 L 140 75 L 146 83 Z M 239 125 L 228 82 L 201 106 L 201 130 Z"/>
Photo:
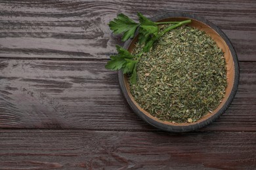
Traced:
<path fill-rule="evenodd" d="M 256 168 L 254 132 L 1 129 L 0 139 L 0 169 Z"/>

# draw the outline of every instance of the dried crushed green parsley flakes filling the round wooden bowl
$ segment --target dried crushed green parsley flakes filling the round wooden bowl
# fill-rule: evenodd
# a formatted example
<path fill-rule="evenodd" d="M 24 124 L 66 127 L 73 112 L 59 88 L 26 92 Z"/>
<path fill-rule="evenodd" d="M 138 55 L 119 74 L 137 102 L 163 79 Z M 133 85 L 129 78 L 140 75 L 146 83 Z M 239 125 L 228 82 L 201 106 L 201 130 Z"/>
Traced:
<path fill-rule="evenodd" d="M 142 48 L 138 43 L 133 55 L 139 56 Z M 142 109 L 160 120 L 196 122 L 224 97 L 223 56 L 205 32 L 188 26 L 172 29 L 137 58 L 138 80 L 130 82 L 131 94 Z"/>

